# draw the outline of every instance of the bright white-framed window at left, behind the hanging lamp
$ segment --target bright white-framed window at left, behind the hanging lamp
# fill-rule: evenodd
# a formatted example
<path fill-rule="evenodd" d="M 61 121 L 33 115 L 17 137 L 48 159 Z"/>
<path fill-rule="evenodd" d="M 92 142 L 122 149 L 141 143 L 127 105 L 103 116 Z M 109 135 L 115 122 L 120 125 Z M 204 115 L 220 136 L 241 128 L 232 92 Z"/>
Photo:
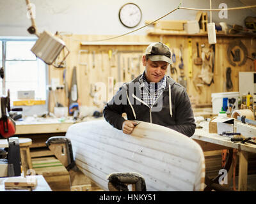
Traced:
<path fill-rule="evenodd" d="M 36 58 L 31 48 L 36 40 L 4 39 L 0 59 L 5 71 L 5 94 L 10 89 L 11 106 L 18 91 L 35 91 L 35 99 L 46 100 L 46 64 Z M 1 83 L 2 84 L 2 83 Z"/>

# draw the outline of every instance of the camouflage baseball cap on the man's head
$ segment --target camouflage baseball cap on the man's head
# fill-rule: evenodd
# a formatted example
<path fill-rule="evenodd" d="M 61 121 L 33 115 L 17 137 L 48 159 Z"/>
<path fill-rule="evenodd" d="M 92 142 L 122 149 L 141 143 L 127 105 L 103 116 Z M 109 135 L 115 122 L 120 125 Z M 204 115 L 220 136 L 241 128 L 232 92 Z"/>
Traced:
<path fill-rule="evenodd" d="M 171 51 L 164 43 L 151 43 L 148 45 L 145 55 L 147 55 L 151 61 L 164 61 L 172 64 Z"/>

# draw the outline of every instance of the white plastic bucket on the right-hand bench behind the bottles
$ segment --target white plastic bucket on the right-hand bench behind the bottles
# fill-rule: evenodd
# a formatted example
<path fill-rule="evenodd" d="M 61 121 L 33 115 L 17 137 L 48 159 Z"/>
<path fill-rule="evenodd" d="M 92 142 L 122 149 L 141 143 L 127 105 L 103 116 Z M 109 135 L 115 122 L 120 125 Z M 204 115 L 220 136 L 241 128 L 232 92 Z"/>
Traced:
<path fill-rule="evenodd" d="M 212 93 L 212 113 L 218 114 L 221 111 L 222 104 L 223 104 L 223 98 L 235 98 L 235 107 L 233 110 L 236 110 L 238 108 L 238 97 L 239 92 L 218 92 L 218 93 Z M 229 106 L 229 103 L 228 103 Z"/>

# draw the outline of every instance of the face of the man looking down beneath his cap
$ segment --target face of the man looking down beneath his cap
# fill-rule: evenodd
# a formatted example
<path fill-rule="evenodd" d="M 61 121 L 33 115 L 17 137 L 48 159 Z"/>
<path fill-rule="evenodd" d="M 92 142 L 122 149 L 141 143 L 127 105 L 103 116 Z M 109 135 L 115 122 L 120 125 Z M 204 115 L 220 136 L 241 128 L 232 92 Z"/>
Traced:
<path fill-rule="evenodd" d="M 150 61 L 150 59 L 148 59 L 147 61 L 145 55 L 143 55 L 142 62 L 143 62 L 143 66 L 145 66 L 146 68 L 145 75 L 148 82 L 157 83 L 166 74 L 166 71 L 168 68 L 168 62 Z"/>

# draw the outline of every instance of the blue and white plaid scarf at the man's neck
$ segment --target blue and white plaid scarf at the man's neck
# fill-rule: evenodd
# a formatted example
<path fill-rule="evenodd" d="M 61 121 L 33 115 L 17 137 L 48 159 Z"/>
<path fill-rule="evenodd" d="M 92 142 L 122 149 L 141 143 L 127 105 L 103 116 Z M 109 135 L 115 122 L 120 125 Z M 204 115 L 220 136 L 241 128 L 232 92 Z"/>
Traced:
<path fill-rule="evenodd" d="M 166 77 L 164 75 L 164 77 L 158 83 L 148 83 L 144 71 L 139 79 L 139 82 L 141 100 L 147 103 L 147 105 L 150 108 L 152 108 L 152 106 L 154 105 L 154 103 L 156 103 L 159 96 L 163 94 L 163 91 L 166 87 Z"/>

